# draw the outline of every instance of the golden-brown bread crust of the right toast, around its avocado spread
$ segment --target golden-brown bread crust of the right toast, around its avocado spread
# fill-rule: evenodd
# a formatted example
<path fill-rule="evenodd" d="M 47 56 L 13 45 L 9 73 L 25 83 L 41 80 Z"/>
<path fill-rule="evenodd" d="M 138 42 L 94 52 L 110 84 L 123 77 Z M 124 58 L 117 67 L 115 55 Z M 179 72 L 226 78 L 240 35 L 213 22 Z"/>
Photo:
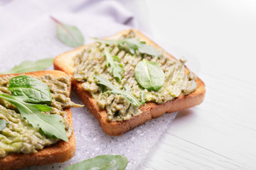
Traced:
<path fill-rule="evenodd" d="M 129 33 L 129 31 L 134 31 L 139 35 L 139 38 L 141 38 L 146 44 L 153 45 L 156 49 L 161 49 L 156 43 L 149 40 L 149 38 L 146 38 L 145 35 L 140 33 L 138 30 L 124 30 L 120 33 L 117 33 L 116 35 L 113 35 L 112 37 L 104 38 L 104 40 L 117 40 L 122 35 Z M 78 47 L 75 50 L 65 52 L 62 55 L 59 55 L 58 57 L 55 57 L 55 60 L 53 62 L 54 68 L 58 69 L 60 71 L 63 71 L 70 75 L 70 77 L 73 76 L 73 72 L 75 70 L 75 67 L 73 67 L 73 57 L 75 55 L 78 55 L 82 50 L 85 49 L 87 45 Z M 168 54 L 169 57 L 174 58 L 172 55 Z M 174 58 L 175 59 L 175 58 Z M 188 71 L 188 68 L 186 68 Z M 167 101 L 163 104 L 157 104 L 153 102 L 147 102 L 146 105 L 141 106 L 139 108 L 142 113 L 139 115 L 132 116 L 129 120 L 123 120 L 122 122 L 117 121 L 109 121 L 107 120 L 107 111 L 101 110 L 97 106 L 97 98 L 93 98 L 92 95 L 88 91 L 82 90 L 82 82 L 79 81 L 73 81 L 73 89 L 75 90 L 76 94 L 81 98 L 82 102 L 85 103 L 85 106 L 89 109 L 89 111 L 92 113 L 92 115 L 97 118 L 99 124 L 102 126 L 102 129 L 104 130 L 107 135 L 122 135 L 124 132 L 127 132 L 131 130 L 132 128 L 137 127 L 138 125 L 142 125 L 143 123 L 146 123 L 146 121 L 151 120 L 152 118 L 158 118 L 159 116 L 163 115 L 164 113 L 172 113 L 176 111 L 181 111 L 186 108 L 191 108 L 193 106 L 196 106 L 203 102 L 203 98 L 206 92 L 205 84 L 201 79 L 198 77 L 196 78 L 197 83 L 197 89 L 196 91 L 193 91 L 191 94 L 188 94 L 187 96 L 178 96 L 178 98 L 175 98 L 174 100 Z"/>

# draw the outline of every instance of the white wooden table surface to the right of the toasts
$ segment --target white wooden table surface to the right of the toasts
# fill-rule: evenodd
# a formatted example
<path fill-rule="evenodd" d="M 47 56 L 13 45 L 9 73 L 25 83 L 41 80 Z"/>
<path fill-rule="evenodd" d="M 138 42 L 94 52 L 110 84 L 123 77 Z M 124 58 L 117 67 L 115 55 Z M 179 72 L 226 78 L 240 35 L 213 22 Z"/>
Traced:
<path fill-rule="evenodd" d="M 178 113 L 142 169 L 256 169 L 256 1 L 146 4 L 155 37 L 188 59 L 206 97 Z"/>

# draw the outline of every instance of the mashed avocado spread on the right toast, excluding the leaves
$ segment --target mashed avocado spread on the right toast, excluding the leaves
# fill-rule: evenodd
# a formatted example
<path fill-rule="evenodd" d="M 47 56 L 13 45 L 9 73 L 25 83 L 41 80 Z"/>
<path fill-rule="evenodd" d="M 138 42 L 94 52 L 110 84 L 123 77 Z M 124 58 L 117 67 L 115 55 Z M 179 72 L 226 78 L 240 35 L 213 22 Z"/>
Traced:
<path fill-rule="evenodd" d="M 134 31 L 123 35 L 120 40 L 125 38 L 140 39 L 139 35 Z M 119 81 L 110 74 L 110 67 L 107 67 L 106 57 L 102 55 L 105 48 L 111 49 L 111 55 L 119 57 L 120 63 L 123 65 L 122 79 Z M 128 120 L 132 115 L 142 113 L 139 106 L 134 106 L 127 101 L 124 96 L 119 94 L 102 93 L 107 89 L 97 84 L 95 76 L 102 76 L 108 79 L 114 86 L 122 89 L 123 86 L 129 86 L 131 93 L 138 101 L 141 101 L 141 94 L 144 91 L 144 98 L 147 102 L 155 102 L 158 104 L 166 103 L 181 94 L 188 95 L 196 90 L 196 76 L 185 69 L 185 60 L 175 60 L 162 49 L 156 49 L 160 53 L 159 56 L 146 55 L 138 51 L 132 55 L 129 50 L 119 47 L 118 45 L 109 45 L 104 42 L 95 42 L 85 47 L 80 54 L 73 58 L 75 71 L 73 78 L 75 81 L 82 81 L 82 89 L 89 91 L 93 97 L 97 98 L 98 106 L 101 109 L 107 109 L 107 120 L 122 121 Z M 146 59 L 159 64 L 164 72 L 164 85 L 158 91 L 148 91 L 139 86 L 134 76 L 134 69 L 138 62 Z"/>

